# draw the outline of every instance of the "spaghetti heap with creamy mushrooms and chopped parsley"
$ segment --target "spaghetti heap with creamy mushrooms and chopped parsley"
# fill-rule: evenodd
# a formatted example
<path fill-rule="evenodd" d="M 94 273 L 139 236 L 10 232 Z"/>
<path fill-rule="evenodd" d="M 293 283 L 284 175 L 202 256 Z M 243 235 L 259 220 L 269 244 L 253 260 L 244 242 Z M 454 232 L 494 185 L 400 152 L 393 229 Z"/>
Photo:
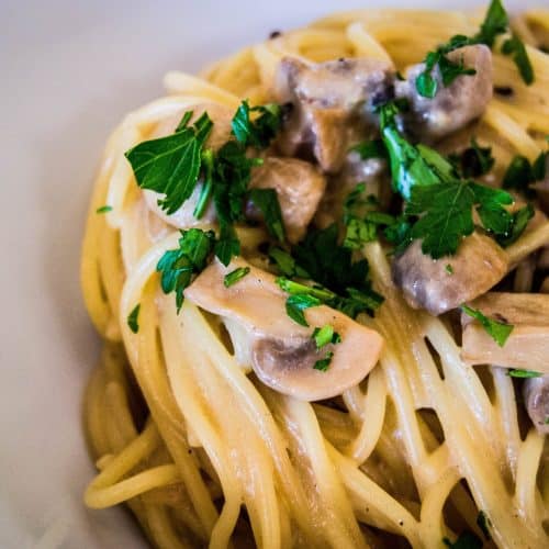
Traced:
<path fill-rule="evenodd" d="M 154 547 L 549 547 L 549 11 L 335 13 L 169 72 L 81 279 Z"/>

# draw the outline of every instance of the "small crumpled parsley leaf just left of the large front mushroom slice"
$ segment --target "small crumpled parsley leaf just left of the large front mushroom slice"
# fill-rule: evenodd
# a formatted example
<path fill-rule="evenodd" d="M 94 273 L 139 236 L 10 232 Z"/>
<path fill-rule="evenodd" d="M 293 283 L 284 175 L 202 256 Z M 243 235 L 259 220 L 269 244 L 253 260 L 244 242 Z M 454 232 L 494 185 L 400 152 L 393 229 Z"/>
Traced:
<path fill-rule="evenodd" d="M 167 250 L 156 266 L 161 273 L 160 285 L 164 293 L 176 293 L 178 313 L 183 304 L 183 291 L 208 265 L 215 245 L 213 231 L 190 228 L 181 231 L 179 247 Z"/>

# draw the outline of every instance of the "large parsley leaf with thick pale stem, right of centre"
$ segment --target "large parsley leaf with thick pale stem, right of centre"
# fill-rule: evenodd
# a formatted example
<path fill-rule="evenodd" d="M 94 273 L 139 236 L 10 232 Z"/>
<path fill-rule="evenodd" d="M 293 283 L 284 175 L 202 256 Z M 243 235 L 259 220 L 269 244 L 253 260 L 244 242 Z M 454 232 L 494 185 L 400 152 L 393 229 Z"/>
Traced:
<path fill-rule="evenodd" d="M 392 235 L 400 238 L 400 247 L 422 239 L 423 253 L 434 259 L 455 254 L 474 231 L 473 210 L 501 245 L 516 240 L 530 219 L 528 206 L 509 213 L 506 206 L 514 203 L 509 193 L 462 178 L 435 149 L 410 143 L 397 130 L 397 112 L 394 103 L 383 105 L 380 122 L 393 188 L 407 201 L 400 232 Z"/>

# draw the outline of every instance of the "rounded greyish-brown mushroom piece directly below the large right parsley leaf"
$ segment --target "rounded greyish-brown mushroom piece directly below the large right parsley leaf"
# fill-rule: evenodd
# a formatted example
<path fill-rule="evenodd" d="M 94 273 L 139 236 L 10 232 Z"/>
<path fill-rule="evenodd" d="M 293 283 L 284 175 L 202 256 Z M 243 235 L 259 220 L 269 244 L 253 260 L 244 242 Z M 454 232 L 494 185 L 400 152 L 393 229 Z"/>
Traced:
<path fill-rule="evenodd" d="M 410 306 L 439 315 L 488 292 L 507 272 L 505 251 L 488 236 L 466 237 L 455 256 L 433 259 L 413 242 L 392 264 L 394 283 Z"/>

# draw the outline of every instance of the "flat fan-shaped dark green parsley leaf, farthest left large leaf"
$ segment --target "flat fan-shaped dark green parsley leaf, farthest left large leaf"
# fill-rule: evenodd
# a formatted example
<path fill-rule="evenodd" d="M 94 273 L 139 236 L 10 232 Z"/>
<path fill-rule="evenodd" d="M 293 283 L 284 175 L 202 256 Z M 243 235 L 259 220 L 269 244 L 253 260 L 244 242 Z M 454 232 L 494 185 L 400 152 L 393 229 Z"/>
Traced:
<path fill-rule="evenodd" d="M 139 143 L 125 153 L 137 184 L 165 194 L 158 205 L 176 212 L 192 194 L 200 175 L 202 146 L 213 123 L 206 113 L 189 126 L 192 112 L 184 113 L 176 132 Z"/>

